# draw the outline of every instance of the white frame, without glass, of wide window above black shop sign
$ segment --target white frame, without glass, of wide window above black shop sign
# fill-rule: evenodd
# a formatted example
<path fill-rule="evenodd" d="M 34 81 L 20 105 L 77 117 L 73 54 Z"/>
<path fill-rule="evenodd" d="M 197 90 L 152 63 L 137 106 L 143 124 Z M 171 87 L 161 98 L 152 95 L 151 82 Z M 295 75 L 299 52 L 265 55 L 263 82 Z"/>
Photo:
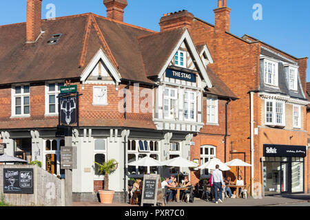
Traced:
<path fill-rule="evenodd" d="M 267 102 L 272 103 L 272 111 L 267 112 Z M 277 112 L 278 106 L 277 104 L 282 104 L 282 113 Z M 267 122 L 267 113 L 272 113 L 271 122 Z M 282 114 L 282 122 L 277 122 L 277 115 Z M 285 102 L 278 100 L 265 100 L 265 124 L 266 125 L 275 125 L 275 126 L 285 126 Z"/>

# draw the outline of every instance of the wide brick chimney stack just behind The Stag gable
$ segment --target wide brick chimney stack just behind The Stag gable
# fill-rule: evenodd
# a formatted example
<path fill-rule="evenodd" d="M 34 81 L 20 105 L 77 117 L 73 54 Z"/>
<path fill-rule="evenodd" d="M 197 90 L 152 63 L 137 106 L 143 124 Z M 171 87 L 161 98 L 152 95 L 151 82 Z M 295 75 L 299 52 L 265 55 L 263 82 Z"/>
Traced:
<path fill-rule="evenodd" d="M 177 28 L 190 29 L 192 27 L 193 19 L 194 15 L 187 12 L 187 10 L 164 14 L 159 22 L 159 25 L 161 25 L 161 32 L 174 30 Z"/>

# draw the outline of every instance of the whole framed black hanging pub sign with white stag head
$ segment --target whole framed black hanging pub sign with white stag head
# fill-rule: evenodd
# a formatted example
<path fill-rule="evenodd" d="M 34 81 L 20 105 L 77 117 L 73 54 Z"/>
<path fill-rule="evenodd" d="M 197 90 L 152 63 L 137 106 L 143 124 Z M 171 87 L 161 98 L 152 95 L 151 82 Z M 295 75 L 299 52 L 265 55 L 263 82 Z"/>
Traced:
<path fill-rule="evenodd" d="M 78 94 L 65 94 L 59 96 L 59 124 L 61 126 L 78 126 L 78 114 Z"/>

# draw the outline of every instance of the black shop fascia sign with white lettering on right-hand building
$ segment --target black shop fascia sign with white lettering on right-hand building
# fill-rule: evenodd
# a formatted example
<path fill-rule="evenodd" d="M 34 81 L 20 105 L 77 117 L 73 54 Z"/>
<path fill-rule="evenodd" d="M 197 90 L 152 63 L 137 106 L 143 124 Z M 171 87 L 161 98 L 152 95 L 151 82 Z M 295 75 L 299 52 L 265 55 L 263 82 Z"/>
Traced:
<path fill-rule="evenodd" d="M 306 146 L 264 144 L 264 157 L 306 157 Z"/>

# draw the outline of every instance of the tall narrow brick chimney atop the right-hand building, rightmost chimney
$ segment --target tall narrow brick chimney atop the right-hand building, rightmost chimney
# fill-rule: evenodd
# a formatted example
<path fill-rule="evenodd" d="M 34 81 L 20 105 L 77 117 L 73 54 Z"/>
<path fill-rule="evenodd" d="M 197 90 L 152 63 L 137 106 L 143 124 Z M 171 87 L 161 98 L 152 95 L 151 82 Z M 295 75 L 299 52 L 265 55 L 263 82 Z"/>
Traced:
<path fill-rule="evenodd" d="M 218 8 L 214 9 L 216 31 L 229 32 L 230 8 L 227 8 L 227 0 L 218 0 Z"/>

